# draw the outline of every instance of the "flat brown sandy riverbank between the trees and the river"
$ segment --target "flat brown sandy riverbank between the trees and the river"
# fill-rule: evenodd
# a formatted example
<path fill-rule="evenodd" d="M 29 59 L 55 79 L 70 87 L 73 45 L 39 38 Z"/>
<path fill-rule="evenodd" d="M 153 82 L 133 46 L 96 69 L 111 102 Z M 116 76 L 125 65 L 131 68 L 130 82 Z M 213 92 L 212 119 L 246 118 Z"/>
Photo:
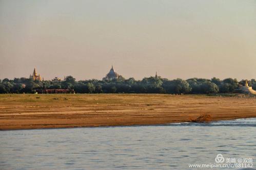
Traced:
<path fill-rule="evenodd" d="M 152 125 L 256 117 L 256 98 L 168 94 L 1 94 L 0 130 Z"/>

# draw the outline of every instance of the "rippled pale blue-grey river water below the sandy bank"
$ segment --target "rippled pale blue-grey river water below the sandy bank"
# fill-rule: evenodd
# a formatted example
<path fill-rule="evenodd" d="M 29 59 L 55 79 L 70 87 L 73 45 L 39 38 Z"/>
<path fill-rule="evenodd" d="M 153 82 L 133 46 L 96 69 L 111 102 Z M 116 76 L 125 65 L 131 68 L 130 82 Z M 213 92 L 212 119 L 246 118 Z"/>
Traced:
<path fill-rule="evenodd" d="M 1 169 L 189 169 L 252 158 L 256 119 L 210 124 L 1 131 Z M 216 168 L 215 168 L 216 169 Z"/>

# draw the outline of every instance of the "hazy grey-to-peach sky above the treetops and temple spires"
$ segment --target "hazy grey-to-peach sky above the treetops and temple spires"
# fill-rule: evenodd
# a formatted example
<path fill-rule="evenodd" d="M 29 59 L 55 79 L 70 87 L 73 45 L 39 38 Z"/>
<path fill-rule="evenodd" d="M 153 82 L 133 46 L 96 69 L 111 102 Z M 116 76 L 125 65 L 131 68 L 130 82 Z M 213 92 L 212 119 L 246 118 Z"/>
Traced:
<path fill-rule="evenodd" d="M 0 79 L 256 79 L 256 1 L 0 0 Z"/>

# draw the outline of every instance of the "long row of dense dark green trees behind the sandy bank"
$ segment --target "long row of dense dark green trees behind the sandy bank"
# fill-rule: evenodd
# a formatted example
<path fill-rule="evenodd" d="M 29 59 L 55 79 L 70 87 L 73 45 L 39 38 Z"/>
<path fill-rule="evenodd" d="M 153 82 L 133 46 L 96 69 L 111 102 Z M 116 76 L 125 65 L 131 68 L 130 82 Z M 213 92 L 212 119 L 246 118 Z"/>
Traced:
<path fill-rule="evenodd" d="M 199 79 L 168 80 L 161 77 L 149 77 L 142 80 L 134 78 L 125 79 L 120 76 L 116 80 L 81 80 L 75 81 L 72 76 L 67 76 L 63 81 L 53 79 L 38 81 L 31 78 L 14 78 L 13 80 L 0 80 L 0 93 L 34 93 L 39 89 L 74 89 L 76 93 L 168 93 L 168 94 L 209 94 L 232 93 L 245 80 L 237 79 Z M 248 85 L 256 90 L 256 80 L 248 81 Z"/>

